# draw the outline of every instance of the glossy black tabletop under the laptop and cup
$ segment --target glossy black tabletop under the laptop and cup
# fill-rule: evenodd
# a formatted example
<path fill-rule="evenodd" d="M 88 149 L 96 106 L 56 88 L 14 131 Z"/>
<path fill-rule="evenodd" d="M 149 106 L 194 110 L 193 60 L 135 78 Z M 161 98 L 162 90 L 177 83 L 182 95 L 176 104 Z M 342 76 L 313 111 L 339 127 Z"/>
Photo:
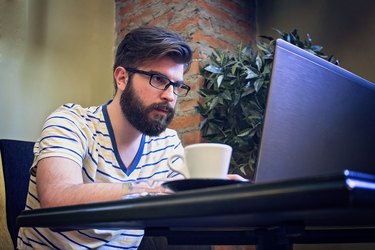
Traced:
<path fill-rule="evenodd" d="M 289 235 L 298 230 L 300 236 L 334 229 L 330 232 L 339 232 L 340 239 L 348 230 L 349 235 L 355 235 L 355 229 L 362 230 L 358 235 L 363 237 L 369 233 L 368 241 L 375 241 L 375 178 L 346 171 L 282 182 L 240 183 L 165 196 L 27 210 L 17 223 L 54 230 L 146 229 L 150 234 L 169 232 L 176 237 L 188 231 L 203 237 L 206 232 L 219 236 L 220 232 L 243 234 L 283 228 L 292 231 Z M 363 237 L 359 240 L 367 241 Z"/>

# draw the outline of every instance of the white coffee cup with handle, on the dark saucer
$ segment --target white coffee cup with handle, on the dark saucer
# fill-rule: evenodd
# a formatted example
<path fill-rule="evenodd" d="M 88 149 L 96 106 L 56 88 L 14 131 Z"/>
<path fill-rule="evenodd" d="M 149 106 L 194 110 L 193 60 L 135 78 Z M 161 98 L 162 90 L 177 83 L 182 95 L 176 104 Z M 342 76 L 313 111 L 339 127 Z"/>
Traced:
<path fill-rule="evenodd" d="M 171 169 L 185 178 L 226 179 L 232 156 L 232 147 L 220 143 L 198 143 L 186 146 L 184 155 L 173 155 L 168 159 Z M 179 157 L 182 164 L 173 163 Z"/>

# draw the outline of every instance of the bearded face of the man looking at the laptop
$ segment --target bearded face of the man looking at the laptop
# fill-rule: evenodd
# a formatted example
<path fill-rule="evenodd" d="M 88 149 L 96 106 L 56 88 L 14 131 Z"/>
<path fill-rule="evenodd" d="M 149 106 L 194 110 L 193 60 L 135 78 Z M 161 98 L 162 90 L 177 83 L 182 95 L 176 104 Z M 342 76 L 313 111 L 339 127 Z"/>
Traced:
<path fill-rule="evenodd" d="M 183 66 L 169 59 L 139 69 L 163 74 L 173 81 L 182 80 L 183 77 Z M 120 105 L 124 116 L 134 128 L 149 136 L 156 136 L 171 123 L 176 96 L 172 86 L 167 90 L 155 89 L 149 80 L 149 76 L 132 74 L 121 94 Z"/>

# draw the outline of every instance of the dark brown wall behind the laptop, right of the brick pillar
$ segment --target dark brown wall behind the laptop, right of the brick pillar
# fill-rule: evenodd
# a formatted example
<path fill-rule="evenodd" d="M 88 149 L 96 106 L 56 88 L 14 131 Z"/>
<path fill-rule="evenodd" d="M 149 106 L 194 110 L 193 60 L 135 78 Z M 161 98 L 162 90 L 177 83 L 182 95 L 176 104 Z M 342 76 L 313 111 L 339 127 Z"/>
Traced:
<path fill-rule="evenodd" d="M 335 55 L 343 68 L 375 82 L 375 1 L 258 0 L 258 35 L 276 37 L 273 28 L 298 30 L 305 39 Z"/>

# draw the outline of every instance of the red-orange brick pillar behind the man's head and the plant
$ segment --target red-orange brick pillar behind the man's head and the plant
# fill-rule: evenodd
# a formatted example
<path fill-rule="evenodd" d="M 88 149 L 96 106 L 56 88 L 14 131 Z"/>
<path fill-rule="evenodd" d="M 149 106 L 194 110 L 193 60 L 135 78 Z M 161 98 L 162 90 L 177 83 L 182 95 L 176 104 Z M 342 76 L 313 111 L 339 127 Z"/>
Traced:
<path fill-rule="evenodd" d="M 176 116 L 170 125 L 183 144 L 201 142 L 200 115 L 195 111 L 197 90 L 203 79 L 199 65 L 205 65 L 214 48 L 233 50 L 242 42 L 255 41 L 256 0 L 116 0 L 116 46 L 130 30 L 155 25 L 177 31 L 192 47 L 193 64 L 185 75 L 192 87 L 178 100 Z"/>

